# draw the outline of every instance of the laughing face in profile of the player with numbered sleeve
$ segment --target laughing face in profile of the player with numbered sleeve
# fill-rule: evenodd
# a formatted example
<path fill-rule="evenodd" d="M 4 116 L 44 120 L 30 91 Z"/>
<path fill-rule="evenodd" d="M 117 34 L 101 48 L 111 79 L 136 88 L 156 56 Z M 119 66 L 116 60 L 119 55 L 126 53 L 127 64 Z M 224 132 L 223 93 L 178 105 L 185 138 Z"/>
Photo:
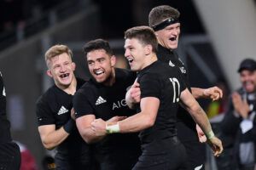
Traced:
<path fill-rule="evenodd" d="M 128 60 L 131 71 L 141 71 L 146 65 L 147 48 L 136 38 L 125 39 L 125 58 Z"/>

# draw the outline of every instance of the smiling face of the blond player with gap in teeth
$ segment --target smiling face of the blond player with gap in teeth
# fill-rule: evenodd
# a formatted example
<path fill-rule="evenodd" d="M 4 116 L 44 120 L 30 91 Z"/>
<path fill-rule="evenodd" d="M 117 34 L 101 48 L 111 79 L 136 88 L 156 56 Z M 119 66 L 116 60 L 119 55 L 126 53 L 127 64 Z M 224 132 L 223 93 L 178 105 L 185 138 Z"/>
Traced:
<path fill-rule="evenodd" d="M 59 54 L 48 59 L 47 63 L 49 65 L 47 74 L 54 79 L 55 85 L 61 89 L 69 87 L 75 79 L 73 74 L 75 64 L 71 57 L 67 53 Z"/>

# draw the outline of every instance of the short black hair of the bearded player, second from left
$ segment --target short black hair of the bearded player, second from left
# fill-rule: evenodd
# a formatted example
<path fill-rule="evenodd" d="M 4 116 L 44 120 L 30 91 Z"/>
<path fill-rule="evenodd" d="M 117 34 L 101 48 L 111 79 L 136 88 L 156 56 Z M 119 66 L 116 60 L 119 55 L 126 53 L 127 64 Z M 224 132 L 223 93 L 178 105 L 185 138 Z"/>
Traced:
<path fill-rule="evenodd" d="M 109 54 L 110 56 L 113 55 L 113 50 L 110 48 L 108 41 L 103 39 L 92 40 L 90 42 L 85 43 L 83 47 L 85 56 L 87 56 L 89 52 L 95 51 L 97 49 L 104 49 L 107 54 Z"/>

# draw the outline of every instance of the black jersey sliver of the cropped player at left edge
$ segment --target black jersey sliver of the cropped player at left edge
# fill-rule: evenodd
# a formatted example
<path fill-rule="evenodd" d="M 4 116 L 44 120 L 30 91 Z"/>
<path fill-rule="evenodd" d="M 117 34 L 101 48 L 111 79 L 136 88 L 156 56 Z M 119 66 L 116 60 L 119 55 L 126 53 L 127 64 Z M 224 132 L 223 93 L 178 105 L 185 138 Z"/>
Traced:
<path fill-rule="evenodd" d="M 6 116 L 6 95 L 3 85 L 3 77 L 0 72 L 0 143 L 10 142 L 10 123 Z"/>

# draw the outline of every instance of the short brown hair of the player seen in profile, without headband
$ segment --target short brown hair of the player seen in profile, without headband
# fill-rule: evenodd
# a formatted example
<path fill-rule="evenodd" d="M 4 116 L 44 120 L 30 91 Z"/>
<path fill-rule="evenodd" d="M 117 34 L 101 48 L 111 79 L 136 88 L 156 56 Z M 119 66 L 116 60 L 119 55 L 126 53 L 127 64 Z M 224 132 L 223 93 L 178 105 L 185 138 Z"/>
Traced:
<path fill-rule="evenodd" d="M 151 45 L 152 51 L 156 53 L 158 42 L 155 37 L 154 31 L 148 26 L 135 26 L 125 31 L 125 39 L 136 38 L 144 45 Z"/>

